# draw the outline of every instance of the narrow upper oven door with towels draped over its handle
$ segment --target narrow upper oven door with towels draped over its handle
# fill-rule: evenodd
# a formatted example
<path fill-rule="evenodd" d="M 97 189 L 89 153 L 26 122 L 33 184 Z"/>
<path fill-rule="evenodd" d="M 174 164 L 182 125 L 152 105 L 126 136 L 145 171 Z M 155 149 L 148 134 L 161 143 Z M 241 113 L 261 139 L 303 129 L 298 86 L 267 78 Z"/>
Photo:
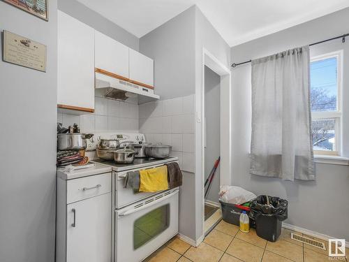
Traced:
<path fill-rule="evenodd" d="M 178 163 L 178 161 L 176 161 Z M 170 163 L 170 162 L 169 162 Z M 147 166 L 145 168 L 138 168 L 138 169 L 133 169 L 132 171 L 137 171 L 137 170 L 144 170 L 144 169 L 149 169 L 149 168 L 158 168 L 159 166 L 164 166 L 163 163 L 154 165 L 154 166 Z M 117 173 L 117 179 L 115 180 L 115 205 L 116 208 L 122 208 L 126 205 L 130 205 L 131 203 L 135 203 L 137 201 L 140 201 L 144 198 L 148 198 L 150 196 L 154 196 L 156 194 L 159 194 L 159 192 L 154 192 L 154 193 L 146 193 L 146 192 L 139 192 L 135 193 L 133 192 L 133 189 L 131 188 L 124 188 L 125 185 L 125 177 L 128 171 L 122 171 Z"/>

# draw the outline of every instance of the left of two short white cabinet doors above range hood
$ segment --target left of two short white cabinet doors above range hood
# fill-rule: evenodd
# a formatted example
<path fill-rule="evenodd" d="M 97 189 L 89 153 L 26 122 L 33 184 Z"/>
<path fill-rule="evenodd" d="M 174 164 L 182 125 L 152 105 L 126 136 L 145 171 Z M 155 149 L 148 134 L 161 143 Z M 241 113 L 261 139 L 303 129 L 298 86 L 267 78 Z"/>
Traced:
<path fill-rule="evenodd" d="M 128 47 L 95 31 L 95 66 L 128 78 Z"/>

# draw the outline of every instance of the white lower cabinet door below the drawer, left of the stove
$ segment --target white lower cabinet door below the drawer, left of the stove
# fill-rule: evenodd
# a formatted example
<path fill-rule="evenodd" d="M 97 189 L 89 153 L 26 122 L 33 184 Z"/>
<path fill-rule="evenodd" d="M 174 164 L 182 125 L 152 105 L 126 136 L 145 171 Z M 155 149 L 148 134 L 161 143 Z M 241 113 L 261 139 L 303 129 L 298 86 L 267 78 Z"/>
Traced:
<path fill-rule="evenodd" d="M 111 261 L 111 194 L 67 205 L 67 262 Z"/>

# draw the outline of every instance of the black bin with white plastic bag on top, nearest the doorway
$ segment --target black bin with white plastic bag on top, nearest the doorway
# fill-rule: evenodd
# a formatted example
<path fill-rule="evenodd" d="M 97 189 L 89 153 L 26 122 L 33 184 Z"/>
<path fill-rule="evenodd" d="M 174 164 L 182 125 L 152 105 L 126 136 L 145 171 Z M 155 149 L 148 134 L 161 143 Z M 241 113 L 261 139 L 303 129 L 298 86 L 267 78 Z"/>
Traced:
<path fill-rule="evenodd" d="M 250 212 L 250 208 L 245 207 L 243 205 L 235 205 L 232 203 L 224 203 L 223 201 L 219 201 L 221 203 L 222 210 L 222 219 L 223 221 L 234 224 L 235 226 L 239 226 L 240 224 L 240 214 L 245 210 L 246 214 Z M 255 220 L 250 219 L 250 228 L 255 228 Z"/>

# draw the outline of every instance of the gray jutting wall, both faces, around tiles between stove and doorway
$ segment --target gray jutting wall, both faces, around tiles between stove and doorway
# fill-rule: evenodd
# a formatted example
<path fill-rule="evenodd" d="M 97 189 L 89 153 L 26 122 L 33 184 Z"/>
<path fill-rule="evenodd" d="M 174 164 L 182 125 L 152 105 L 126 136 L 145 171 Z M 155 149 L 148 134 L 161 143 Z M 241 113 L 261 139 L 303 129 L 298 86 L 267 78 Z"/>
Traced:
<path fill-rule="evenodd" d="M 140 52 L 155 60 L 154 82 L 156 94 L 161 99 L 195 94 L 195 111 L 201 112 L 202 48 L 229 66 L 228 44 L 197 6 L 191 6 L 140 38 Z M 202 170 L 201 124 L 195 122 L 195 175 L 184 174 L 185 184 L 179 195 L 179 233 L 192 240 L 202 237 L 203 226 L 202 180 L 205 171 Z"/>

